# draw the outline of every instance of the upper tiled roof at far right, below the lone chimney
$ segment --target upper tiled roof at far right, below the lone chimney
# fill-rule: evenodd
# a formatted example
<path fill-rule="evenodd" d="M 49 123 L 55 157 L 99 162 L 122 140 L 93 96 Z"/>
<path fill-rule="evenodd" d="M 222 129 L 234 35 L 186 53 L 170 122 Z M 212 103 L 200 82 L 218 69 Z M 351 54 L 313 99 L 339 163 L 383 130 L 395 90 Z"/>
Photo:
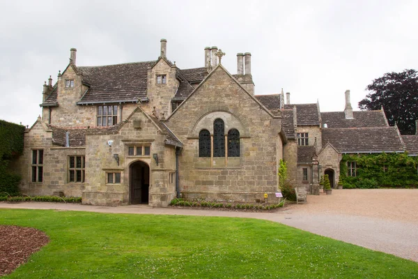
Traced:
<path fill-rule="evenodd" d="M 353 119 L 346 119 L 344 112 L 321 112 L 323 123 L 328 128 L 359 128 L 388 126 L 385 114 L 381 110 L 353 112 Z"/>

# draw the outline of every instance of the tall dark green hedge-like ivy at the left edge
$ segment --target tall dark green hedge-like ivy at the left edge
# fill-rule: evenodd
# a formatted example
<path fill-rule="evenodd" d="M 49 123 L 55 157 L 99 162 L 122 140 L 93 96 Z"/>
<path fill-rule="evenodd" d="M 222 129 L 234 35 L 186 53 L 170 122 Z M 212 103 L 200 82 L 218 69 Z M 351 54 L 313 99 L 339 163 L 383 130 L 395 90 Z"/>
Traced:
<path fill-rule="evenodd" d="M 19 194 L 20 176 L 10 171 L 8 165 L 22 154 L 23 141 L 24 126 L 0 120 L 0 196 Z"/>

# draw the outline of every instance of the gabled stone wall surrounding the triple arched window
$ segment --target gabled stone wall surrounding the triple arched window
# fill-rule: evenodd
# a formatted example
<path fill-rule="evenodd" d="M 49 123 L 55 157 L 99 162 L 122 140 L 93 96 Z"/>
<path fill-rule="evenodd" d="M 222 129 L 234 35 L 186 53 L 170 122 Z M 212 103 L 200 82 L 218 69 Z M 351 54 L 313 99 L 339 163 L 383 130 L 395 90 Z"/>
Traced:
<path fill-rule="evenodd" d="M 199 131 L 212 131 L 224 119 L 240 131 L 239 158 L 199 158 Z M 277 191 L 277 140 L 281 119 L 265 112 L 222 67 L 167 120 L 184 144 L 180 155 L 180 192 L 187 199 L 256 202 Z M 212 132 L 211 132 L 212 133 Z"/>

